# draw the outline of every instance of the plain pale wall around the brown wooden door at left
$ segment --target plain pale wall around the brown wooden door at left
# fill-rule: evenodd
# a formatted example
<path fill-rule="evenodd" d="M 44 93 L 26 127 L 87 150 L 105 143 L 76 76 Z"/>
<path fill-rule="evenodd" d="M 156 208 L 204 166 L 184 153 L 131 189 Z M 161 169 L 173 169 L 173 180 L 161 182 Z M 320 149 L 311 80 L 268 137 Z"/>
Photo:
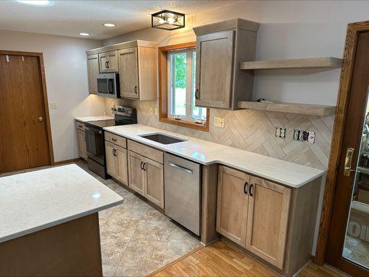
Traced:
<path fill-rule="evenodd" d="M 55 161 L 78 157 L 73 118 L 104 113 L 104 99 L 89 96 L 84 51 L 100 41 L 0 30 L 0 49 L 44 54 L 46 88 L 50 109 Z"/>

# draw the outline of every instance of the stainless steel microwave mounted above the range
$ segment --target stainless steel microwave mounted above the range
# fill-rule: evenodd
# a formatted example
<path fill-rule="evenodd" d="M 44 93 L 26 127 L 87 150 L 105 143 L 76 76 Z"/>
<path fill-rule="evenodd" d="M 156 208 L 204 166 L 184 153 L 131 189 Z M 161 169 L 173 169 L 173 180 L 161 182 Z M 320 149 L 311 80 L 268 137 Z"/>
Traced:
<path fill-rule="evenodd" d="M 120 98 L 119 73 L 98 74 L 98 96 Z"/>

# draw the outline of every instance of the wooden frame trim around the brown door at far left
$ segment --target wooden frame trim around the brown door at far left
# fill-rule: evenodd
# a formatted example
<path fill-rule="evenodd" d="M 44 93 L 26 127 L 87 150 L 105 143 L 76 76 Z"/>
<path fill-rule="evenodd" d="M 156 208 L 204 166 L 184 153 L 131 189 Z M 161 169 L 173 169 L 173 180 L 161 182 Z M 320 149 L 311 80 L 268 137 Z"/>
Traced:
<path fill-rule="evenodd" d="M 47 131 L 47 136 L 48 136 L 48 154 L 50 157 L 50 165 L 55 166 L 53 140 L 51 137 L 50 113 L 48 111 L 48 98 L 47 98 L 47 90 L 46 90 L 44 55 L 42 53 L 36 53 L 36 52 L 7 51 L 7 50 L 0 50 L 0 55 L 34 56 L 34 57 L 39 58 L 39 67 L 41 71 L 40 73 L 41 73 L 41 82 L 42 82 L 42 93 L 44 96 L 44 108 L 45 108 L 45 116 L 46 116 L 45 118 L 46 119 L 46 131 Z"/>

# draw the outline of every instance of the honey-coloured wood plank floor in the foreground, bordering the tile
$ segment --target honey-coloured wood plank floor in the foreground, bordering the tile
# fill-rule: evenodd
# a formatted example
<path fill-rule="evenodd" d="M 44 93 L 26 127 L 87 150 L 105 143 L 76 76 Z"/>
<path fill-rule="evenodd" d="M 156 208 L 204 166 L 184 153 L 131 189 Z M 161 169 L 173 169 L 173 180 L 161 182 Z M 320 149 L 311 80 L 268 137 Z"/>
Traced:
<path fill-rule="evenodd" d="M 195 249 L 149 276 L 280 276 L 280 274 L 219 241 L 208 247 Z M 345 275 L 332 267 L 318 267 L 310 262 L 297 276 Z"/>

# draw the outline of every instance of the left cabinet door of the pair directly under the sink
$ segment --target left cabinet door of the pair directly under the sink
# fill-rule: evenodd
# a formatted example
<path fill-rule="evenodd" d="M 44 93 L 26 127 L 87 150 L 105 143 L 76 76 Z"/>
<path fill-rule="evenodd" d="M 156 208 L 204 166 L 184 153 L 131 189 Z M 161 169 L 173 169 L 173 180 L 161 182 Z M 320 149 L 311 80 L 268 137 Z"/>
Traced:
<path fill-rule="evenodd" d="M 129 188 L 141 195 L 145 195 L 143 157 L 135 152 L 128 151 Z"/>

